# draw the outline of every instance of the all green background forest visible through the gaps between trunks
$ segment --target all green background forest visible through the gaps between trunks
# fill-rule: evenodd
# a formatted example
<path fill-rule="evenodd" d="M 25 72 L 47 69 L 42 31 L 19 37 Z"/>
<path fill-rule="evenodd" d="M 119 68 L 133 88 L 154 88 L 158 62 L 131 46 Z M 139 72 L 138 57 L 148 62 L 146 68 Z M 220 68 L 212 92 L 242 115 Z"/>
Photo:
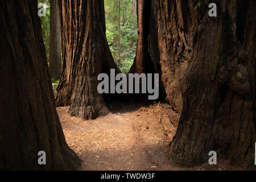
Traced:
<path fill-rule="evenodd" d="M 41 17 L 44 46 L 49 62 L 50 39 L 50 0 L 40 0 L 45 3 L 46 16 Z M 106 38 L 115 63 L 123 73 L 127 73 L 133 64 L 137 47 L 137 13 L 136 0 L 105 0 Z M 53 90 L 56 90 L 59 80 L 52 80 Z"/>

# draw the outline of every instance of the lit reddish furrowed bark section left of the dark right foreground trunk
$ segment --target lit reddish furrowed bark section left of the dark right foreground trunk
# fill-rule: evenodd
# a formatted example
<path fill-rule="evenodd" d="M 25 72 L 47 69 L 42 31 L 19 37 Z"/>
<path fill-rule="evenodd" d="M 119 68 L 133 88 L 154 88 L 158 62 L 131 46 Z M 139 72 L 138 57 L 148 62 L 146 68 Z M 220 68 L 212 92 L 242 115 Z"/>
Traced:
<path fill-rule="evenodd" d="M 150 55 L 161 75 L 166 101 L 179 113 L 181 80 L 192 53 L 190 11 L 188 1 L 151 1 Z"/>

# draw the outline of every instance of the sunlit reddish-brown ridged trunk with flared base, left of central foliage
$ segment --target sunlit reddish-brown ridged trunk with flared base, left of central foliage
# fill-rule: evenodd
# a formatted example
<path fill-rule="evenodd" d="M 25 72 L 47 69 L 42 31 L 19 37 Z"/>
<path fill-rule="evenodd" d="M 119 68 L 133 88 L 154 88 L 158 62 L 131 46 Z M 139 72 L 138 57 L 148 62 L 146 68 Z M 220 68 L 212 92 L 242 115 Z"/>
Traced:
<path fill-rule="evenodd" d="M 110 68 L 120 73 L 106 40 L 104 1 L 59 0 L 63 67 L 57 106 L 70 105 L 69 114 L 89 119 L 108 113 L 97 92 L 97 76 Z"/>

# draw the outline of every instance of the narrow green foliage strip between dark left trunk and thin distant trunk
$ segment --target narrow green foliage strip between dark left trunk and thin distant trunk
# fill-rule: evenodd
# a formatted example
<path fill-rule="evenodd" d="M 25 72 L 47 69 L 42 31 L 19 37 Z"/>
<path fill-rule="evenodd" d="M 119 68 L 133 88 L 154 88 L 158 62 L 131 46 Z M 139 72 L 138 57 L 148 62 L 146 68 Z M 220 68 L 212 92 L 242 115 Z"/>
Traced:
<path fill-rule="evenodd" d="M 38 0 L 38 3 L 45 3 L 48 6 L 46 9 L 46 16 L 42 16 L 40 19 L 43 30 L 44 46 L 46 47 L 47 62 L 49 62 L 50 0 Z"/>

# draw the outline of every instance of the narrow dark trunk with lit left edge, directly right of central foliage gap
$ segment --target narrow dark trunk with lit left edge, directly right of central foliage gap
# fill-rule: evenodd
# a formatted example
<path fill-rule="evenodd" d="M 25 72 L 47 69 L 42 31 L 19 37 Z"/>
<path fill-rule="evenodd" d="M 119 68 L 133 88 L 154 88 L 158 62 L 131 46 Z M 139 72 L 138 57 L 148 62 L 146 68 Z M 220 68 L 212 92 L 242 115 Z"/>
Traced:
<path fill-rule="evenodd" d="M 159 53 L 155 53 L 154 55 L 150 55 L 151 52 L 155 52 L 158 47 L 152 47 L 151 43 L 152 38 L 157 38 L 157 32 L 154 32 L 154 36 L 151 31 L 152 28 L 155 30 L 155 24 L 151 25 L 151 6 L 155 5 L 155 2 L 152 1 L 152 5 L 150 1 L 146 0 L 138 0 L 136 3 L 137 7 L 137 20 L 138 20 L 138 42 L 137 42 L 137 53 L 134 59 L 133 65 L 131 65 L 129 73 L 159 73 L 161 77 L 160 64 L 159 59 L 156 59 L 155 55 L 159 55 Z M 148 42 L 148 41 L 151 42 Z M 152 42 L 152 45 L 156 44 L 156 42 Z M 150 51 L 151 50 L 151 51 Z M 151 59 L 153 56 L 153 60 Z M 159 92 L 160 97 L 166 98 L 166 93 L 164 90 L 162 80 L 159 80 Z M 147 94 L 130 94 L 131 97 L 135 98 L 137 101 L 142 101 L 144 99 L 147 100 Z"/>

